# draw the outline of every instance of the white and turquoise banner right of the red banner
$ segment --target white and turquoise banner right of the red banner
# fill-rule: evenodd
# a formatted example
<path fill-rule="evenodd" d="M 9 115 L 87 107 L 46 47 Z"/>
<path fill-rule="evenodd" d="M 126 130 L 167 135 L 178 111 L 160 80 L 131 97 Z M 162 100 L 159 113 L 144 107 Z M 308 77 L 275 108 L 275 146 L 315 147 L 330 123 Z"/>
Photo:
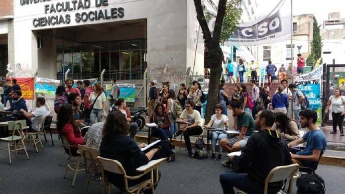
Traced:
<path fill-rule="evenodd" d="M 46 95 L 55 95 L 60 80 L 37 77 L 35 83 L 35 92 Z"/>

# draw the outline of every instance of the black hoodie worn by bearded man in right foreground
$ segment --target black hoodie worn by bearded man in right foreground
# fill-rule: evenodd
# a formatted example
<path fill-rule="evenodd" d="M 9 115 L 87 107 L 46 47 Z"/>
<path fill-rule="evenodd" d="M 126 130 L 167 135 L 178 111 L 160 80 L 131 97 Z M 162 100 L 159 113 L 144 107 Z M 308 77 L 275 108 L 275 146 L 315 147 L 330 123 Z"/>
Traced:
<path fill-rule="evenodd" d="M 234 165 L 248 170 L 248 178 L 257 189 L 262 191 L 264 191 L 266 177 L 273 168 L 292 164 L 284 139 L 276 131 L 270 132 L 260 130 L 250 136 L 241 156 L 236 156 L 233 160 Z M 269 193 L 277 193 L 282 185 L 283 182 L 269 183 Z"/>

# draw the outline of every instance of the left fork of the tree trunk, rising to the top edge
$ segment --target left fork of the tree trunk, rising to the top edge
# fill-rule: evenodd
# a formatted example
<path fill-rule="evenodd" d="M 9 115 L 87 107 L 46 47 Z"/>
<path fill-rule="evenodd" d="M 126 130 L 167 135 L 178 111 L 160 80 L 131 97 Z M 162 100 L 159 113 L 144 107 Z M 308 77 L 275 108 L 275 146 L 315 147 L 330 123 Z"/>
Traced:
<path fill-rule="evenodd" d="M 226 2 L 226 0 L 225 0 Z M 199 25 L 201 27 L 202 30 L 202 34 L 205 40 L 205 43 L 207 46 L 211 45 L 211 33 L 209 32 L 209 28 L 204 16 L 204 11 L 202 9 L 202 5 L 201 5 L 201 0 L 194 0 L 194 5 L 195 5 L 195 9 L 196 9 L 196 19 L 199 21 Z"/>

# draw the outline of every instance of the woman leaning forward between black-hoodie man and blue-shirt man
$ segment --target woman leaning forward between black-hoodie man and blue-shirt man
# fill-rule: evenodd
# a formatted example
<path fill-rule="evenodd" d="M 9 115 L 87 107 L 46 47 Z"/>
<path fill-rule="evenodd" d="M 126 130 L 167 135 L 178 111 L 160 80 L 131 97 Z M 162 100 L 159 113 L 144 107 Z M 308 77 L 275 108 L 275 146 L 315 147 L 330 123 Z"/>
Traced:
<path fill-rule="evenodd" d="M 272 129 L 278 130 L 282 138 L 288 142 L 301 138 L 297 122 L 283 113 L 276 113 L 276 122 Z"/>

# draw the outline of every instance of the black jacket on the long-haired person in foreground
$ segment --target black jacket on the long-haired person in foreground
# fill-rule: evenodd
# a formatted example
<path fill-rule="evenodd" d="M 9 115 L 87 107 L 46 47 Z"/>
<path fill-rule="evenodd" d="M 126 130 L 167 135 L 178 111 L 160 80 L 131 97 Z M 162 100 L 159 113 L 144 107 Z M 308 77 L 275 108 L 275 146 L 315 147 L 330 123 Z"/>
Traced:
<path fill-rule="evenodd" d="M 103 138 L 99 152 L 101 157 L 118 160 L 129 176 L 138 175 L 136 169 L 149 163 L 149 159 L 130 136 L 113 135 L 110 139 Z M 112 176 L 114 179 L 123 180 L 120 174 L 112 174 Z"/>

